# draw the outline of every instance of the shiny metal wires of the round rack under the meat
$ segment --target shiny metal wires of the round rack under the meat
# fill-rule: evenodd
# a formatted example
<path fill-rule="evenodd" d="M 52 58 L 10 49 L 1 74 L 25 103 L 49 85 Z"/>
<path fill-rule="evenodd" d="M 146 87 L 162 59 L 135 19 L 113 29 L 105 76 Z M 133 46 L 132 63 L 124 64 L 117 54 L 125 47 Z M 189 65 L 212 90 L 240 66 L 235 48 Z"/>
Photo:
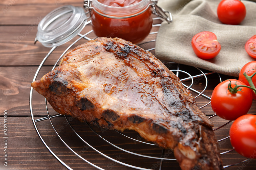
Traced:
<path fill-rule="evenodd" d="M 157 20 L 157 19 L 159 19 L 159 18 L 154 18 L 154 20 Z M 87 24 L 87 25 L 90 24 L 90 21 L 88 21 L 86 24 Z M 161 24 L 156 24 L 156 25 L 153 25 L 153 26 L 154 26 L 154 27 L 158 27 L 158 26 L 160 26 L 160 25 L 161 25 Z M 79 37 L 76 41 L 74 41 L 74 42 L 62 53 L 62 55 L 59 57 L 59 59 L 58 59 L 58 60 L 56 61 L 56 63 L 54 64 L 54 67 L 52 68 L 52 70 L 57 66 L 57 63 L 60 61 L 60 59 L 62 58 L 62 56 L 63 56 L 64 54 L 66 54 L 66 52 L 67 52 L 75 43 L 77 43 L 77 42 L 78 42 L 79 40 L 81 40 L 81 39 L 91 40 L 87 35 L 90 34 L 90 33 L 92 33 L 92 32 L 93 32 L 93 31 L 91 30 L 91 31 L 87 32 L 87 33 L 84 34 L 84 35 L 78 34 L 80 37 Z M 152 32 L 152 33 L 150 33 L 150 34 L 157 34 L 157 32 Z M 148 41 L 148 42 L 144 42 L 144 43 L 142 43 L 142 44 L 139 44 L 139 45 L 143 45 L 143 44 L 146 44 L 146 43 L 152 43 L 152 42 L 154 42 L 154 41 L 155 41 L 155 40 L 151 40 L 151 41 Z M 51 48 L 51 50 L 49 51 L 49 53 L 48 53 L 48 54 L 46 55 L 46 57 L 42 60 L 41 64 L 39 65 L 39 67 L 38 67 L 38 69 L 37 69 L 37 71 L 36 71 L 36 73 L 35 73 L 35 76 L 34 76 L 33 81 L 36 80 L 37 75 L 38 75 L 40 69 L 42 68 L 42 65 L 44 64 L 44 62 L 46 61 L 46 59 L 51 55 L 51 53 L 52 53 L 55 49 L 56 49 L 56 47 Z M 151 50 L 154 50 L 154 49 L 155 49 L 155 48 L 147 49 L 147 51 L 151 51 Z M 175 63 L 174 63 L 174 62 L 167 62 L 167 63 L 165 63 L 165 64 L 175 64 Z M 173 72 L 176 72 L 176 75 L 177 75 L 177 76 L 178 76 L 179 74 L 186 74 L 186 75 L 188 75 L 187 77 L 185 77 L 185 78 L 183 78 L 183 79 L 180 79 L 180 80 L 181 80 L 181 82 L 188 81 L 188 80 L 191 81 L 191 82 L 190 82 L 190 85 L 185 85 L 185 84 L 183 84 L 183 85 L 184 85 L 187 89 L 189 89 L 190 91 L 192 91 L 193 93 L 196 93 L 196 94 L 197 94 L 197 96 L 194 97 L 195 99 L 198 98 L 198 97 L 203 97 L 203 98 L 206 98 L 207 100 L 210 100 L 210 97 L 208 97 L 207 95 L 204 95 L 204 94 L 203 94 L 203 93 L 205 92 L 206 88 L 207 88 L 207 85 L 208 85 L 207 75 L 210 75 L 210 74 L 217 74 L 217 73 L 213 73 L 213 72 L 204 73 L 202 70 L 200 70 L 200 69 L 198 69 L 198 68 L 195 68 L 195 69 L 198 70 L 199 74 L 193 75 L 193 76 L 192 76 L 191 74 L 189 74 L 188 72 L 186 72 L 186 71 L 180 70 L 180 65 L 179 65 L 179 64 L 177 64 L 177 68 L 174 69 L 174 70 L 172 70 L 172 71 L 173 71 Z M 220 77 L 220 75 L 219 75 L 219 74 L 217 74 L 217 75 L 218 75 L 218 77 L 219 77 L 219 81 L 221 82 L 221 77 Z M 205 80 L 205 88 L 204 88 L 201 92 L 199 92 L 199 91 L 197 91 L 197 90 L 195 90 L 195 89 L 192 88 L 192 85 L 193 85 L 193 83 L 194 83 L 193 80 L 196 79 L 196 78 L 198 78 L 198 77 L 202 77 L 202 79 Z M 93 166 L 93 167 L 95 167 L 95 168 L 98 168 L 98 169 L 102 169 L 102 170 L 103 170 L 103 168 L 101 168 L 101 167 L 95 165 L 94 163 L 92 163 L 92 162 L 90 162 L 90 161 L 84 159 L 81 155 L 79 155 L 76 151 L 74 151 L 74 150 L 65 142 L 65 140 L 59 135 L 59 133 L 58 133 L 57 130 L 56 130 L 55 125 L 54 125 L 53 122 L 52 122 L 52 119 L 54 119 L 55 117 L 60 116 L 60 114 L 50 114 L 50 113 L 49 113 L 49 109 L 48 109 L 48 106 L 47 106 L 47 101 L 46 101 L 46 99 L 45 99 L 45 106 L 46 106 L 46 112 L 47 112 L 47 115 L 48 115 L 48 116 L 47 116 L 47 117 L 40 118 L 40 119 L 35 119 L 34 112 L 33 112 L 32 98 L 33 98 L 33 88 L 31 87 L 31 89 L 30 89 L 30 97 L 29 97 L 29 104 L 30 104 L 30 112 L 31 112 L 32 121 L 33 121 L 33 124 L 34 124 L 34 126 L 35 126 L 36 132 L 38 133 L 38 136 L 40 137 L 40 139 L 42 140 L 42 142 L 44 143 L 44 145 L 46 146 L 46 148 L 52 153 L 52 155 L 55 156 L 55 158 L 56 158 L 60 163 L 62 163 L 65 167 L 67 167 L 68 169 L 72 169 L 72 167 L 70 167 L 69 165 L 67 165 L 63 160 L 61 160 L 61 159 L 59 158 L 58 155 L 56 155 L 56 154 L 54 153 L 54 151 L 52 151 L 52 149 L 49 147 L 49 143 L 47 144 L 47 142 L 43 139 L 42 134 L 40 133 L 40 128 L 39 128 L 38 125 L 37 125 L 37 123 L 40 122 L 40 121 L 47 121 L 47 120 L 50 121 L 50 124 L 51 124 L 52 128 L 54 129 L 54 132 L 56 133 L 56 135 L 59 137 L 59 139 L 61 140 L 61 142 L 62 142 L 71 152 L 73 152 L 76 156 L 78 156 L 78 158 L 80 158 L 80 159 L 83 160 L 84 162 L 88 163 L 89 165 L 91 165 L 91 166 Z M 200 109 L 201 109 L 201 108 L 204 108 L 204 107 L 206 107 L 206 106 L 208 106 L 209 104 L 210 104 L 210 101 L 209 101 L 207 104 L 205 104 L 204 106 L 201 106 Z M 211 119 L 211 118 L 213 118 L 213 117 L 215 117 L 215 116 L 216 116 L 216 115 L 212 115 L 212 116 L 209 117 L 209 119 Z M 113 161 L 113 162 L 115 162 L 115 163 L 118 163 L 118 164 L 121 164 L 121 165 L 124 165 L 124 166 L 127 166 L 127 167 L 131 167 L 131 168 L 135 168 L 135 169 L 148 170 L 148 168 L 143 168 L 143 167 L 134 166 L 134 165 L 131 165 L 131 164 L 124 163 L 124 162 L 122 162 L 122 161 L 120 161 L 120 160 L 113 159 L 113 158 L 111 158 L 110 156 L 108 156 L 107 154 L 104 154 L 104 153 L 101 152 L 100 150 L 94 148 L 92 145 L 90 145 L 90 144 L 88 143 L 88 141 L 84 140 L 84 139 L 77 133 L 76 129 L 70 124 L 70 121 L 68 120 L 67 116 L 65 116 L 65 119 L 66 119 L 68 125 L 70 126 L 70 128 L 72 129 L 73 133 L 74 133 L 75 135 L 77 135 L 77 137 L 78 137 L 83 143 L 85 143 L 87 146 L 89 146 L 92 150 L 94 150 L 94 151 L 97 152 L 98 154 L 104 156 L 105 158 L 107 158 L 107 159 L 109 159 L 109 160 L 111 160 L 111 161 Z M 229 124 L 230 122 L 231 122 L 231 121 L 229 121 L 229 122 L 227 122 L 227 123 L 225 123 L 225 124 L 223 124 L 223 125 L 221 125 L 221 126 L 215 128 L 214 130 L 220 129 L 220 128 L 226 126 L 227 124 Z M 102 137 L 102 136 L 101 136 L 99 133 L 97 133 L 96 130 L 94 130 L 94 128 L 93 128 L 92 126 L 90 126 L 88 123 L 86 123 L 86 124 L 87 124 L 88 127 L 92 130 L 92 132 L 94 132 L 94 134 L 95 134 L 96 136 L 98 136 L 101 140 L 103 140 L 103 142 L 107 143 L 108 145 L 111 145 L 111 146 L 115 147 L 116 149 L 118 149 L 118 150 L 120 150 L 120 151 L 126 152 L 126 153 L 131 154 L 131 155 L 140 156 L 140 157 L 143 157 L 143 158 L 150 158 L 150 159 L 159 160 L 159 161 L 160 161 L 160 166 L 159 166 L 159 168 L 158 168 L 159 170 L 161 170 L 161 168 L 162 168 L 163 160 L 176 161 L 176 159 L 172 159 L 172 158 L 155 157 L 155 156 L 149 156 L 149 155 L 144 155 L 144 154 L 138 154 L 138 153 L 129 151 L 129 150 L 127 150 L 127 149 L 123 149 L 123 148 L 121 148 L 121 147 L 119 147 L 119 146 L 113 144 L 113 143 L 110 142 L 109 140 L 105 139 L 104 137 Z M 136 142 L 140 142 L 140 143 L 142 143 L 143 145 L 148 145 L 148 146 L 154 145 L 153 143 L 150 143 L 150 142 L 144 142 L 144 141 L 137 140 L 137 139 L 135 139 L 135 138 L 129 137 L 129 136 L 127 136 L 127 135 L 125 135 L 125 134 L 123 134 L 123 133 L 121 133 L 121 132 L 118 132 L 118 131 L 115 131 L 115 132 L 118 133 L 118 134 L 121 134 L 122 136 L 127 137 L 127 139 L 131 139 L 131 140 L 134 140 L 134 141 L 136 141 Z M 229 138 L 229 136 L 227 136 L 227 137 L 225 137 L 225 138 L 223 138 L 223 139 L 218 140 L 218 142 L 223 141 L 223 140 L 228 139 L 228 138 Z M 230 150 L 228 150 L 228 151 L 222 152 L 221 154 L 226 154 L 226 153 L 229 153 L 229 152 L 231 152 L 231 151 L 233 151 L 233 149 L 230 149 Z M 165 152 L 165 150 L 163 149 L 161 154 L 163 155 L 164 152 Z M 247 161 L 247 160 L 249 160 L 249 159 L 244 159 L 244 160 L 242 160 L 242 161 L 240 161 L 240 162 L 237 162 L 237 163 L 225 165 L 224 168 L 229 167 L 229 166 L 233 166 L 233 165 L 237 165 L 237 164 L 242 163 L 242 162 L 245 162 L 245 161 Z"/>

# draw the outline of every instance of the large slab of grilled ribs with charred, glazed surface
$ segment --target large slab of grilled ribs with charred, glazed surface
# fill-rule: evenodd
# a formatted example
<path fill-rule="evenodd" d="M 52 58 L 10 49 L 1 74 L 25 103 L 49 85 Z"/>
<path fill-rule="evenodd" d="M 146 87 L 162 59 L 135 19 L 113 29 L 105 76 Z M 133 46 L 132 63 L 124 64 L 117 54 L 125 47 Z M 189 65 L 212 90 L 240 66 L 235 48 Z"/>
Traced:
<path fill-rule="evenodd" d="M 82 44 L 31 86 L 60 114 L 132 129 L 173 149 L 182 169 L 222 169 L 213 124 L 192 95 L 161 61 L 130 42 L 99 37 Z"/>

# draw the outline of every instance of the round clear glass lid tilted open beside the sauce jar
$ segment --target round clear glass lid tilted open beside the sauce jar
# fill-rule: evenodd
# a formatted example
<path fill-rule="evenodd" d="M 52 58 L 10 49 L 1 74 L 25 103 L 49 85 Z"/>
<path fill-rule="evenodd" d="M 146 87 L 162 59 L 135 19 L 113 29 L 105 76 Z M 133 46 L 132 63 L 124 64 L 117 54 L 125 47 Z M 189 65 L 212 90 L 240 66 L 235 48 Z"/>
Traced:
<path fill-rule="evenodd" d="M 56 8 L 39 22 L 36 39 L 45 47 L 60 46 L 75 37 L 86 21 L 82 7 L 66 5 Z"/>

